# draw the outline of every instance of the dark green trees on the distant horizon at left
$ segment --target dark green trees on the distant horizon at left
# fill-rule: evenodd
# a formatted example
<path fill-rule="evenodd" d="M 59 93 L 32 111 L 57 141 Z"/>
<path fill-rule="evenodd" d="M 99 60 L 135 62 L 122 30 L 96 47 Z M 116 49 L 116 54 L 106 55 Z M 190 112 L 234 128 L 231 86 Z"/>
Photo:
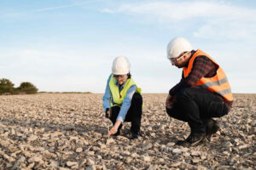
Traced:
<path fill-rule="evenodd" d="M 31 82 L 21 82 L 18 88 L 9 79 L 0 79 L 0 94 L 37 94 L 36 88 Z"/>

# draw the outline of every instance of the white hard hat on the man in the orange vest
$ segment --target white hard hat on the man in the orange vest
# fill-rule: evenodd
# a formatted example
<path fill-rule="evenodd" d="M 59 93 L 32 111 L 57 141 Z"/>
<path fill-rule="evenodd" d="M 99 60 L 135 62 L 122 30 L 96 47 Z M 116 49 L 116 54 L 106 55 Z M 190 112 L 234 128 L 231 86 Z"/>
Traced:
<path fill-rule="evenodd" d="M 183 37 L 173 38 L 167 45 L 167 58 L 175 58 L 183 52 L 192 51 L 191 43 Z"/>

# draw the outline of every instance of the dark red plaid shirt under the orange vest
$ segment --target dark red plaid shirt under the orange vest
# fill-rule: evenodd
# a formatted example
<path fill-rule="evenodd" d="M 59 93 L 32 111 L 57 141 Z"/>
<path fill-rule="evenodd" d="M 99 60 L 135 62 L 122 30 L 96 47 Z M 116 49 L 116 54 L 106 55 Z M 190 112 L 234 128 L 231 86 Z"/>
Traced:
<path fill-rule="evenodd" d="M 195 54 L 195 51 L 192 51 L 192 55 Z M 189 64 L 189 62 L 188 62 Z M 190 88 L 195 85 L 196 82 L 198 82 L 201 77 L 213 77 L 216 75 L 216 71 L 218 69 L 218 65 L 215 65 L 211 59 L 208 59 L 206 56 L 201 55 L 195 58 L 193 63 L 193 68 L 191 72 L 189 73 L 188 77 L 184 78 L 184 75 L 182 76 L 182 79 L 180 82 L 177 83 L 176 86 L 174 86 L 170 91 L 170 95 L 177 94 L 178 89 L 180 88 Z M 222 99 L 225 103 L 225 105 L 230 109 L 232 105 L 232 101 L 225 100 L 222 96 L 219 95 L 219 98 Z"/>

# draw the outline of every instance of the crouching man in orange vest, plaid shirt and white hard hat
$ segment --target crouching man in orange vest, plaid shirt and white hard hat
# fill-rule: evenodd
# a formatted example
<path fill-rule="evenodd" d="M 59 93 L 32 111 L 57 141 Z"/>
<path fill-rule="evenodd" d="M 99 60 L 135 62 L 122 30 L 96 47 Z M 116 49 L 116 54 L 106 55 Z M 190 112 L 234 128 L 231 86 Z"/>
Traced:
<path fill-rule="evenodd" d="M 183 37 L 168 43 L 167 58 L 172 65 L 183 68 L 180 82 L 171 88 L 166 99 L 169 116 L 188 122 L 189 137 L 177 145 L 193 146 L 211 139 L 219 129 L 212 117 L 221 117 L 230 111 L 233 96 L 230 83 L 217 62 Z"/>

